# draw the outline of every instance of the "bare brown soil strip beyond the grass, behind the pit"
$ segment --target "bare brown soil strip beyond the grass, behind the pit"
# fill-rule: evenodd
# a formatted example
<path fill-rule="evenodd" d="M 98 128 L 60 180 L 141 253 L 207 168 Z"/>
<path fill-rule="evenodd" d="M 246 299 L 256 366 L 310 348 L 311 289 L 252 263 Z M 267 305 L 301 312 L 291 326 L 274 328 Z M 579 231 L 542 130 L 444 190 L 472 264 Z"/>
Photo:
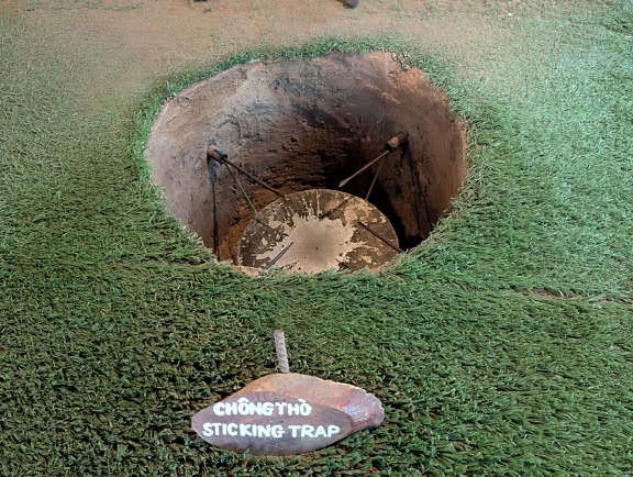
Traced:
<path fill-rule="evenodd" d="M 440 7 L 446 13 L 436 14 Z M 476 60 L 499 41 L 499 31 L 470 14 L 486 8 L 482 0 L 362 0 L 356 10 L 338 0 L 11 0 L 0 13 L 20 12 L 20 41 L 34 55 L 48 47 L 85 59 L 68 88 L 82 108 L 102 110 L 232 53 L 319 36 L 401 36 Z"/>

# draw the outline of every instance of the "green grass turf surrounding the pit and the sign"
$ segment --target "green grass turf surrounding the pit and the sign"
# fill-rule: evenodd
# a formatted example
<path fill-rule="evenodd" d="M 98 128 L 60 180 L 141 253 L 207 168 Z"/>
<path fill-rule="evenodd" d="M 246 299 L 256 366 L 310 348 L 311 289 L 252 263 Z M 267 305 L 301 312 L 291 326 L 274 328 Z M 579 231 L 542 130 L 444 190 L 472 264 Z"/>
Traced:
<path fill-rule="evenodd" d="M 88 110 L 99 58 L 0 16 L 0 475 L 632 474 L 630 22 L 626 2 L 526 15 L 467 56 L 264 45 Z M 455 213 L 381 276 L 213 265 L 147 184 L 163 98 L 262 55 L 378 47 L 466 121 Z M 385 424 L 291 458 L 198 440 L 193 413 L 275 370 L 276 328 L 293 370 L 376 393 Z"/>

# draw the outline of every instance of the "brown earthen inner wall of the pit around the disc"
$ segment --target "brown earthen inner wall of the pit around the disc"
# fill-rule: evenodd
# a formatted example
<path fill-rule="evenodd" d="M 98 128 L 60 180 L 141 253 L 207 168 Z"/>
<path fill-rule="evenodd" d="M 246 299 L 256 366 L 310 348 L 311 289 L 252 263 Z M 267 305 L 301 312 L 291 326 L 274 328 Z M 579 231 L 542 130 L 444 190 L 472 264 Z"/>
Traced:
<path fill-rule="evenodd" d="M 259 211 L 278 197 L 226 165 L 208 163 L 209 144 L 282 193 L 334 189 L 365 198 L 378 165 L 343 188 L 338 182 L 402 132 L 408 142 L 381 160 L 368 201 L 410 249 L 449 213 L 467 174 L 466 140 L 444 95 L 390 53 L 232 67 L 167 101 L 145 154 L 168 212 L 219 262 L 235 264 L 253 207 Z"/>

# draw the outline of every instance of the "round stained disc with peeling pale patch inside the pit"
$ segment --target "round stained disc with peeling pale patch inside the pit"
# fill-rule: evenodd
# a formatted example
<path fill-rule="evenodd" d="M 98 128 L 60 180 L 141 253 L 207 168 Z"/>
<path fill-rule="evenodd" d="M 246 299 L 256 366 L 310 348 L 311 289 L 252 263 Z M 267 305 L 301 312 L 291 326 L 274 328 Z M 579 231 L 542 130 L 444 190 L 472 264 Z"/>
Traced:
<path fill-rule="evenodd" d="M 398 254 L 391 223 L 356 196 L 312 189 L 268 204 L 244 230 L 240 265 L 315 274 L 377 268 Z"/>

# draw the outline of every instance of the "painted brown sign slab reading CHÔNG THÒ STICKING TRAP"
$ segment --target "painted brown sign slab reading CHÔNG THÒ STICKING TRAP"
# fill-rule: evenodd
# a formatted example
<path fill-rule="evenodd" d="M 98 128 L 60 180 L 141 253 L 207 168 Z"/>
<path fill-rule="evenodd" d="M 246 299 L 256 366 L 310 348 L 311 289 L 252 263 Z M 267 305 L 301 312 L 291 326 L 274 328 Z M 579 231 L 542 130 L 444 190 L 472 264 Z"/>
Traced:
<path fill-rule="evenodd" d="M 382 419 L 380 401 L 360 388 L 289 373 L 266 376 L 203 409 L 191 426 L 227 451 L 295 455 L 326 447 Z"/>

